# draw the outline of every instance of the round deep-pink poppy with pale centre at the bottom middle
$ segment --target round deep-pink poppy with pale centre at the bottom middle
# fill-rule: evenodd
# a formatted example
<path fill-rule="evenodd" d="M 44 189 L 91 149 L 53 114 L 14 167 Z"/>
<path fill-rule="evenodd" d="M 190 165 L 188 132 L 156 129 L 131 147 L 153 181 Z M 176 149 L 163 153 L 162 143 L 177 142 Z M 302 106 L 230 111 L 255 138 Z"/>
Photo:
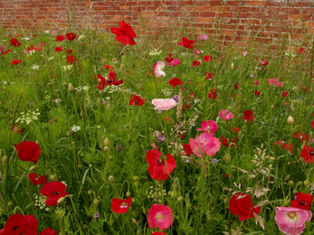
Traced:
<path fill-rule="evenodd" d="M 147 222 L 151 229 L 156 227 L 160 230 L 167 230 L 175 220 L 173 211 L 167 205 L 154 204 L 147 214 Z"/>

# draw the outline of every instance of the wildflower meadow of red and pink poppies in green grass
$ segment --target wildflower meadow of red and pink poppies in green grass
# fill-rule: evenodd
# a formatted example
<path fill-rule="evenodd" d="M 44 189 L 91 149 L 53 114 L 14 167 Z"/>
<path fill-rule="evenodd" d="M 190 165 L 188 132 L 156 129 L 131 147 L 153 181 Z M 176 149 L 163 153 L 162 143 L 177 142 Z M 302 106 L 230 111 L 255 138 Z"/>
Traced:
<path fill-rule="evenodd" d="M 0 235 L 313 234 L 313 42 L 1 30 Z"/>

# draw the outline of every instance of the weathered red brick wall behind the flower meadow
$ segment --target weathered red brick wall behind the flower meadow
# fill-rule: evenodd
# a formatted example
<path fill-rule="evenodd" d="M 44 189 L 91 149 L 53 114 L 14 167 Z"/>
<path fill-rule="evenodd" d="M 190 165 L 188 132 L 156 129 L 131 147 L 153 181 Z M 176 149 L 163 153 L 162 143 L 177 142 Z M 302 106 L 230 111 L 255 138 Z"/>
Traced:
<path fill-rule="evenodd" d="M 79 27 L 97 25 L 109 32 L 110 27 L 117 27 L 125 19 L 137 33 L 143 25 L 149 27 L 147 34 L 158 34 L 166 26 L 183 25 L 195 33 L 214 35 L 218 26 L 225 42 L 234 38 L 243 46 L 253 38 L 255 42 L 276 42 L 280 31 L 292 40 L 302 39 L 302 28 L 305 33 L 314 31 L 313 1 L 0 0 L 0 9 L 0 24 L 4 27 L 67 23 L 68 15 L 75 9 Z"/>

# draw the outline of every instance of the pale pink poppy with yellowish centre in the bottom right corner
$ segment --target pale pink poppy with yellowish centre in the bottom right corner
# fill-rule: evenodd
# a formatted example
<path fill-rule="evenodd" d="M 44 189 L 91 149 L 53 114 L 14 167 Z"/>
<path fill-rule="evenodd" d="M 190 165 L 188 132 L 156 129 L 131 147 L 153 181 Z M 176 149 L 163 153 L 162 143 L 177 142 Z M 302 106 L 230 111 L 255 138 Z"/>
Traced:
<path fill-rule="evenodd" d="M 288 235 L 300 235 L 305 228 L 305 222 L 312 218 L 311 211 L 293 207 L 276 207 L 275 221 L 279 229 Z"/>

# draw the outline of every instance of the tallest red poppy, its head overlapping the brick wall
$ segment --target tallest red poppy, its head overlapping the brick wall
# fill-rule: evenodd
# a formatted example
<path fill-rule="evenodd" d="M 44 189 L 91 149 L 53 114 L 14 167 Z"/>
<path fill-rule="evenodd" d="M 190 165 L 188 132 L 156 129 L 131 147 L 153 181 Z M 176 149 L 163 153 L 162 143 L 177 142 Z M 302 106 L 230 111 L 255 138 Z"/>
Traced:
<path fill-rule="evenodd" d="M 133 38 L 137 38 L 137 34 L 134 33 L 131 26 L 124 23 L 124 20 L 119 23 L 119 28 L 110 28 L 111 33 L 115 33 L 116 40 L 121 42 L 122 44 L 135 45 L 135 41 Z"/>

